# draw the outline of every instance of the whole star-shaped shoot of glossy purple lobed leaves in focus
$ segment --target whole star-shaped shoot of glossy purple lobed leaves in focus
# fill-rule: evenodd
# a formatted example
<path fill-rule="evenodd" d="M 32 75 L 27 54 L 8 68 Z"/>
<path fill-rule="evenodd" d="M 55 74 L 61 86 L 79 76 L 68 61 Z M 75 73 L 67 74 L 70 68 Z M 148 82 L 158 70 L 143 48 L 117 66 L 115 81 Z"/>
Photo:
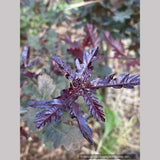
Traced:
<path fill-rule="evenodd" d="M 61 119 L 62 111 L 69 112 L 71 110 L 71 118 L 77 119 L 81 133 L 93 144 L 93 140 L 90 137 L 92 131 L 87 125 L 84 112 L 80 110 L 79 105 L 75 101 L 79 96 L 83 96 L 85 103 L 89 105 L 89 114 L 100 121 L 105 121 L 102 110 L 103 106 L 99 104 L 98 99 L 93 96 L 96 89 L 104 87 L 132 89 L 134 86 L 140 84 L 140 79 L 137 75 L 129 76 L 129 73 L 125 73 L 117 78 L 114 78 L 115 74 L 112 74 L 104 80 L 97 78 L 89 82 L 93 70 L 92 63 L 98 59 L 98 47 L 90 49 L 88 52 L 84 51 L 82 60 L 76 59 L 75 73 L 61 58 L 53 56 L 51 59 L 57 63 L 57 68 L 67 73 L 65 75 L 66 78 L 72 82 L 70 82 L 69 88 L 62 90 L 60 96 L 51 101 L 41 100 L 30 101 L 28 103 L 28 105 L 33 108 L 44 109 L 36 115 L 36 127 L 40 128 L 45 126 L 46 123 L 50 124 L 53 119 L 58 122 Z"/>

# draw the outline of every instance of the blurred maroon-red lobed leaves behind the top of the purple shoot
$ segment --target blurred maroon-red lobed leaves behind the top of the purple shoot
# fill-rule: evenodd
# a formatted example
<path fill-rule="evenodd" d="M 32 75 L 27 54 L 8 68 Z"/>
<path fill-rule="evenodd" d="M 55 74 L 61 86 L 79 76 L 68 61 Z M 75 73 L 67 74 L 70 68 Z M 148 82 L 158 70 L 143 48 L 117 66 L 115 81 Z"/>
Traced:
<path fill-rule="evenodd" d="M 84 38 L 79 44 L 77 41 L 72 41 L 70 37 L 65 36 L 65 38 L 61 38 L 63 41 L 66 42 L 70 47 L 68 48 L 67 52 L 71 55 L 73 55 L 76 58 L 79 58 L 81 61 L 83 59 L 83 50 L 90 47 L 100 46 L 102 43 L 102 36 L 98 35 L 97 28 L 94 27 L 92 24 L 86 23 L 84 26 Z M 106 41 L 106 44 L 112 47 L 112 50 L 114 52 L 113 58 L 123 58 L 128 60 L 128 57 L 125 54 L 125 49 L 123 47 L 121 39 L 114 39 L 114 37 L 111 35 L 109 31 L 105 31 L 103 33 L 104 39 Z M 97 61 L 101 61 L 105 59 L 106 56 L 99 55 L 97 58 Z M 126 65 L 127 67 L 136 66 L 139 64 L 139 58 L 131 59 L 127 61 Z M 106 66 L 108 67 L 108 66 Z"/>

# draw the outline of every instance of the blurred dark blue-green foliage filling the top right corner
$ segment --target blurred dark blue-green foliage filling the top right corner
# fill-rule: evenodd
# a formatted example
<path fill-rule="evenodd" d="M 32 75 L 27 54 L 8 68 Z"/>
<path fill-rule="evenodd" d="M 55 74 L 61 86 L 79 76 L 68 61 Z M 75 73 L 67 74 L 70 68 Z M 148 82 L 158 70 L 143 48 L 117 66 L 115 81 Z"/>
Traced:
<path fill-rule="evenodd" d="M 132 43 L 128 49 L 134 50 L 137 53 L 135 56 L 139 56 L 139 0 L 102 0 L 100 3 L 72 9 L 71 13 L 77 17 L 75 28 L 88 22 L 98 28 L 100 35 L 107 30 L 114 38 L 129 38 Z"/>

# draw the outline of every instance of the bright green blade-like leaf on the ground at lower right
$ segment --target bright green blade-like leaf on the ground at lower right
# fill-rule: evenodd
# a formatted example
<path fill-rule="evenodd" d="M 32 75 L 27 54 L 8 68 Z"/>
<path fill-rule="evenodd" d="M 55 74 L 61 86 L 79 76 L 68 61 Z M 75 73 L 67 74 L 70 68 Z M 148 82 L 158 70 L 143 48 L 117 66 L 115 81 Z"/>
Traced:
<path fill-rule="evenodd" d="M 96 97 L 100 103 L 103 103 L 104 114 L 105 114 L 105 129 L 100 139 L 97 151 L 102 154 L 114 154 L 117 153 L 117 144 L 118 144 L 118 135 L 119 135 L 119 126 L 121 125 L 121 119 L 119 114 L 104 105 L 104 98 L 100 90 L 97 90 Z"/>

